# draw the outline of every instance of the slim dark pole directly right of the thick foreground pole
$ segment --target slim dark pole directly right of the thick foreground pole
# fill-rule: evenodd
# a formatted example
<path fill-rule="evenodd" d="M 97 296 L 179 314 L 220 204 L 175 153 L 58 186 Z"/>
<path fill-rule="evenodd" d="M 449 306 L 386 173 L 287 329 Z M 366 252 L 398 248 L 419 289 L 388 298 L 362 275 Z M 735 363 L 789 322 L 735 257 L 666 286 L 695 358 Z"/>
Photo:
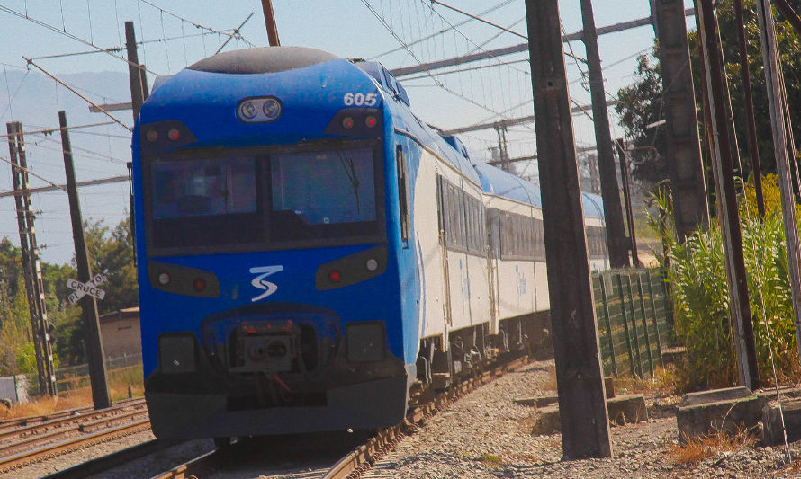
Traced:
<path fill-rule="evenodd" d="M 623 226 L 623 208 L 620 205 L 620 188 L 617 186 L 615 154 L 612 150 L 612 135 L 609 133 L 607 94 L 604 92 L 604 74 L 600 67 L 598 32 L 595 30 L 591 0 L 581 0 L 581 19 L 584 22 L 582 40 L 587 49 L 592 119 L 595 125 L 595 142 L 598 145 L 598 169 L 601 196 L 604 199 L 609 264 L 612 268 L 626 268 L 629 265 L 626 230 Z"/>

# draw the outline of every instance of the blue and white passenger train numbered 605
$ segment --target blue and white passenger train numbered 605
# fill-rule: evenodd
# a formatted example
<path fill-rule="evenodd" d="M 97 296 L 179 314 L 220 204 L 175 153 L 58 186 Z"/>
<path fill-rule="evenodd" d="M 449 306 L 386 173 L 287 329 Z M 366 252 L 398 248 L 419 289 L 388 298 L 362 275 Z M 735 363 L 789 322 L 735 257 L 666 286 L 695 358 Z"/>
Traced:
<path fill-rule="evenodd" d="M 239 49 L 159 78 L 132 139 L 159 439 L 362 430 L 547 339 L 539 189 L 378 62 Z M 592 267 L 603 208 L 584 193 Z"/>

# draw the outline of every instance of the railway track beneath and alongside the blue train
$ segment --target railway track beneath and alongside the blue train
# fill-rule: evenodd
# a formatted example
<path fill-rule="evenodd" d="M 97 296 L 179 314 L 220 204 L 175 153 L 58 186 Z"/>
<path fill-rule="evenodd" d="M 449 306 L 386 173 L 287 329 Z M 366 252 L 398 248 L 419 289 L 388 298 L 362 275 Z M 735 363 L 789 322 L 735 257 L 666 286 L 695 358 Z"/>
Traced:
<path fill-rule="evenodd" d="M 307 462 L 302 462 L 302 457 L 299 457 L 299 462 L 294 466 L 282 466 L 279 468 L 269 466 L 273 469 L 267 471 L 266 466 L 262 469 L 254 469 L 254 474 L 260 477 L 283 477 L 293 479 L 311 479 L 311 478 L 325 478 L 325 479 L 353 479 L 359 477 L 366 470 L 368 470 L 376 460 L 383 457 L 384 454 L 391 451 L 395 444 L 397 444 L 405 435 L 413 433 L 414 430 L 422 426 L 431 417 L 437 414 L 438 411 L 446 408 L 448 404 L 453 403 L 462 396 L 472 392 L 478 387 L 491 383 L 495 378 L 503 376 L 507 371 L 519 368 L 528 362 L 531 358 L 529 356 L 518 357 L 510 359 L 503 364 L 497 364 L 481 374 L 476 373 L 473 377 L 469 377 L 457 386 L 448 389 L 446 392 L 437 394 L 431 401 L 425 404 L 417 404 L 410 408 L 407 414 L 406 421 L 398 426 L 379 430 L 377 433 L 370 435 L 364 440 L 357 440 L 355 447 L 348 448 L 346 452 L 340 452 L 336 457 L 329 459 L 327 464 L 311 464 L 308 462 L 308 457 L 319 457 L 319 451 L 310 451 L 310 445 L 315 442 L 317 436 L 324 438 L 322 440 L 329 441 L 342 450 L 343 440 L 337 439 L 338 437 L 326 437 L 325 435 L 314 435 L 314 438 L 309 436 L 302 437 L 302 439 L 285 439 L 285 438 L 271 438 L 263 439 L 267 442 L 259 442 L 258 439 L 240 440 L 238 443 L 233 444 L 230 448 L 218 449 L 216 451 L 205 454 L 201 457 L 196 457 L 193 460 L 186 462 L 180 466 L 175 466 L 173 469 L 156 475 L 157 479 L 184 479 L 187 477 L 207 477 L 213 475 L 215 471 L 225 471 L 231 467 L 240 468 L 243 461 L 250 460 L 251 457 L 260 457 L 261 464 L 268 463 L 262 454 L 269 453 L 271 457 L 282 457 L 286 459 L 287 454 L 297 453 L 298 448 L 293 448 L 293 440 L 298 440 L 303 445 L 300 450 L 304 457 L 307 457 Z M 290 437 L 295 438 L 295 437 Z M 356 438 L 353 438 L 356 439 Z M 320 445 L 315 444 L 315 447 Z M 326 448 L 322 445 L 322 448 Z M 329 453 L 331 450 L 329 450 Z M 274 463 L 268 463 L 274 464 Z M 253 468 L 253 467 L 250 467 Z"/>

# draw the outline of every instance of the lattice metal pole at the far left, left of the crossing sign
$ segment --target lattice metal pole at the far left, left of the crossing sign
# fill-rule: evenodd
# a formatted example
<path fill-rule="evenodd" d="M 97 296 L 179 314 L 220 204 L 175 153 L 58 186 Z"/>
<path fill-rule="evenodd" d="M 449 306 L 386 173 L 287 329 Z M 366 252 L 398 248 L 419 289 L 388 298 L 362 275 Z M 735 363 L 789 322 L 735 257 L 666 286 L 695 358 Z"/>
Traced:
<path fill-rule="evenodd" d="M 44 301 L 44 285 L 41 279 L 39 248 L 36 244 L 36 228 L 33 226 L 33 207 L 28 187 L 28 161 L 25 155 L 23 124 L 19 121 L 5 124 L 8 130 L 8 152 L 11 156 L 12 182 L 14 183 L 14 205 L 17 211 L 17 226 L 20 230 L 20 251 L 23 257 L 25 291 L 28 311 L 31 315 L 33 350 L 36 353 L 36 372 L 39 390 L 44 395 L 56 395 L 56 368 L 53 363 L 53 346 L 50 342 L 50 326 L 47 306 Z"/>

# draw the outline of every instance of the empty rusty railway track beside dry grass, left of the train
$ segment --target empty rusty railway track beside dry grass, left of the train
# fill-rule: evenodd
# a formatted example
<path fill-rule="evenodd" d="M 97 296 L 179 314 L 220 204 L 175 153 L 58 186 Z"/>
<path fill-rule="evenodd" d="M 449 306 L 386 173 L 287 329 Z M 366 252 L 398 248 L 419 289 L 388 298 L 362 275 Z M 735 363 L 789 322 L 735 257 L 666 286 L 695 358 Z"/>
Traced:
<path fill-rule="evenodd" d="M 143 399 L 96 411 L 86 407 L 4 421 L 0 425 L 0 473 L 149 428 Z"/>

